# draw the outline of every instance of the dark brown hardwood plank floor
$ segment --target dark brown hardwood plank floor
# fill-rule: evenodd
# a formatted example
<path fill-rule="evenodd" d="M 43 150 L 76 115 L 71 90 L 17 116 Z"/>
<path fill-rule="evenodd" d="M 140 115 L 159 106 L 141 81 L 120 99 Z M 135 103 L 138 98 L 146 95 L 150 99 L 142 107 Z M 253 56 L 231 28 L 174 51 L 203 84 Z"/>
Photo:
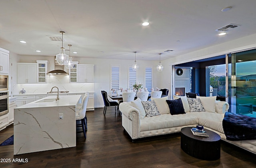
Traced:
<path fill-rule="evenodd" d="M 122 128 L 122 116 L 108 108 L 86 112 L 86 140 L 77 134 L 76 147 L 13 155 L 13 145 L 0 146 L 0 158 L 28 159 L 28 162 L 0 162 L 0 168 L 255 168 L 254 154 L 221 142 L 220 159 L 205 161 L 193 158 L 180 148 L 180 133 L 132 142 Z M 0 143 L 12 136 L 13 125 L 0 131 Z M 40 144 L 38 144 L 40 145 Z"/>

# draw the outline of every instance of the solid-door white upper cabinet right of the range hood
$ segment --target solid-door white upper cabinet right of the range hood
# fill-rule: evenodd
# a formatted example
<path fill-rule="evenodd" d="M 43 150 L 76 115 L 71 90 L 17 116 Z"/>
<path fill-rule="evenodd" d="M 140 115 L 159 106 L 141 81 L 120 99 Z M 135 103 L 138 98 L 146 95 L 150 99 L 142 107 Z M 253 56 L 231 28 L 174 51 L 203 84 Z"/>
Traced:
<path fill-rule="evenodd" d="M 94 65 L 78 64 L 78 82 L 90 83 L 94 81 Z"/>

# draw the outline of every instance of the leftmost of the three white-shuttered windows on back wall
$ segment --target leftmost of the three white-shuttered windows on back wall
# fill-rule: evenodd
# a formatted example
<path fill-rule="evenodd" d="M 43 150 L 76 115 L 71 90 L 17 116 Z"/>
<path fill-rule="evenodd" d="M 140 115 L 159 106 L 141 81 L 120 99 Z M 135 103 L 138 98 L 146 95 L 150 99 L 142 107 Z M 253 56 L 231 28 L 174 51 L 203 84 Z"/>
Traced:
<path fill-rule="evenodd" d="M 110 90 L 120 88 L 120 65 L 111 65 Z"/>

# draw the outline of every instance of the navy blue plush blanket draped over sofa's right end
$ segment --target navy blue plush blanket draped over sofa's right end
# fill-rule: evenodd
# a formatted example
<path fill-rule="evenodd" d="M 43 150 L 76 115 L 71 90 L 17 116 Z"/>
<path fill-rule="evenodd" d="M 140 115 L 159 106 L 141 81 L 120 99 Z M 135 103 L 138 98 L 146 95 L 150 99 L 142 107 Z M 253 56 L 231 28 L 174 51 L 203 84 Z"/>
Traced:
<path fill-rule="evenodd" d="M 256 139 L 256 118 L 226 112 L 222 126 L 227 140 Z"/>

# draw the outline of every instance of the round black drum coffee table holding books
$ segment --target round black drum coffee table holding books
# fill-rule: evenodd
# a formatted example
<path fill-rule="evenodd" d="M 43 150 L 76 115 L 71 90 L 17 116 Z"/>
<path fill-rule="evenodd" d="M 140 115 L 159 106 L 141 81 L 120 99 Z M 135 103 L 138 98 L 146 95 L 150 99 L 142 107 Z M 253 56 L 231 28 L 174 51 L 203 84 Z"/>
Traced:
<path fill-rule="evenodd" d="M 220 158 L 220 136 L 213 131 L 204 129 L 209 137 L 196 136 L 191 132 L 193 127 L 181 129 L 180 147 L 184 152 L 202 160 L 217 160 Z"/>

